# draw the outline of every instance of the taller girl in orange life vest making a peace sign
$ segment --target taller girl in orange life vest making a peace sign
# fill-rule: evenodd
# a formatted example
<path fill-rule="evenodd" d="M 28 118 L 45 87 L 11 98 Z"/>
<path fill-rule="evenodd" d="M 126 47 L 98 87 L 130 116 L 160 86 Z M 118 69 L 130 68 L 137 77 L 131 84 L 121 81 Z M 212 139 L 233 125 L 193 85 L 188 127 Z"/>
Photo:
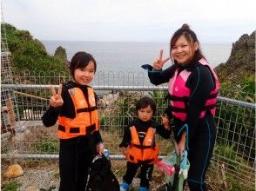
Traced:
<path fill-rule="evenodd" d="M 93 56 L 77 52 L 70 64 L 73 81 L 59 85 L 57 92 L 51 88 L 50 107 L 42 118 L 46 127 L 58 120 L 60 191 L 84 191 L 93 156 L 104 150 L 97 95 L 88 86 L 96 67 Z"/>

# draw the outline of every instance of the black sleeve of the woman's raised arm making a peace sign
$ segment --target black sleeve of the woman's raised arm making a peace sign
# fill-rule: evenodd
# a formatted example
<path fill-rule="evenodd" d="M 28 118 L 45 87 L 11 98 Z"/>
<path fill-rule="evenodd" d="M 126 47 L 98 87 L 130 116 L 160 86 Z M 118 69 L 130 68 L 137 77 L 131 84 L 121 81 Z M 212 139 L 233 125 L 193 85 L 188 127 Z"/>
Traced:
<path fill-rule="evenodd" d="M 159 85 L 165 82 L 169 82 L 170 78 L 173 76 L 174 71 L 176 69 L 175 65 L 172 65 L 168 69 L 165 70 L 149 70 L 148 71 L 148 77 L 150 79 L 150 82 L 154 85 Z"/>

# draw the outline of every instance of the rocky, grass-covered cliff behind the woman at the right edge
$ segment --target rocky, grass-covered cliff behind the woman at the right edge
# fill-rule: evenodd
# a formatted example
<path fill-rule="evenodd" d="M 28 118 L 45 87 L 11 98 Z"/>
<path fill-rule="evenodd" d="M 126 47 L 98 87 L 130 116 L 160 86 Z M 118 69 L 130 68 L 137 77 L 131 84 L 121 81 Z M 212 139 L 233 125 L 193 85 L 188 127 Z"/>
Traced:
<path fill-rule="evenodd" d="M 255 30 L 232 43 L 226 63 L 215 68 L 220 82 L 220 95 L 246 102 L 256 102 L 255 96 Z"/>

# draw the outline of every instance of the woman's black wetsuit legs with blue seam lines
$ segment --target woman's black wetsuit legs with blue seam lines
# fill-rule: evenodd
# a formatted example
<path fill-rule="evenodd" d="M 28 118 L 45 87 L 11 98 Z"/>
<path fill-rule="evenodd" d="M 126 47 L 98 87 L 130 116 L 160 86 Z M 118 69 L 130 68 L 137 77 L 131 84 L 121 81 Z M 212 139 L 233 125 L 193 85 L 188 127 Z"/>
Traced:
<path fill-rule="evenodd" d="M 211 115 L 200 120 L 193 139 L 189 144 L 188 186 L 191 191 L 205 191 L 205 173 L 209 167 L 216 139 L 216 125 Z"/>

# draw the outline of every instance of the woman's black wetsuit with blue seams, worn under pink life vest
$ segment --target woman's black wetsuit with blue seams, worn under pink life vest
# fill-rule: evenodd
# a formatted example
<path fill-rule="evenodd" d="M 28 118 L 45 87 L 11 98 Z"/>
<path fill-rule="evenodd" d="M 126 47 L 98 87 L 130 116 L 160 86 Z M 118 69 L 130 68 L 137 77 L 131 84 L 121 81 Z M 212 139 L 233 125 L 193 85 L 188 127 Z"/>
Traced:
<path fill-rule="evenodd" d="M 181 135 L 179 131 L 187 125 L 188 137 L 186 146 L 188 146 L 188 148 L 186 149 L 188 150 L 188 159 L 191 164 L 187 181 L 192 191 L 206 190 L 205 173 L 212 157 L 217 130 L 210 112 L 206 111 L 205 116 L 201 119 L 199 119 L 199 115 L 211 91 L 215 89 L 215 81 L 211 70 L 198 61 L 192 61 L 185 66 L 176 63 L 165 70 L 152 69 L 148 72 L 148 76 L 153 84 L 158 85 L 169 82 L 176 69 L 179 69 L 179 72 L 184 69 L 191 71 L 191 75 L 185 82 L 185 86 L 191 89 L 193 94 L 189 97 L 187 102 L 188 110 L 185 122 L 174 118 L 175 127 L 173 131 L 179 142 Z"/>

